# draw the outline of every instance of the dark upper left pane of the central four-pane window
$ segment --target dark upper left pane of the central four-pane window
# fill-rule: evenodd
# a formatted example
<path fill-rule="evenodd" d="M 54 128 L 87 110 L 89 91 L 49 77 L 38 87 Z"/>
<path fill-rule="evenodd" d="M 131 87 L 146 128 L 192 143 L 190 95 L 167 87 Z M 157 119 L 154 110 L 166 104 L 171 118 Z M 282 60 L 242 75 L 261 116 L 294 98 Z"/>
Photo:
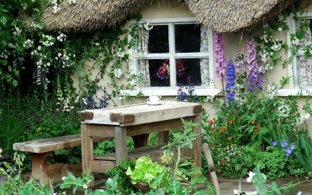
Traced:
<path fill-rule="evenodd" d="M 156 25 L 149 31 L 148 53 L 169 53 L 168 25 Z"/>

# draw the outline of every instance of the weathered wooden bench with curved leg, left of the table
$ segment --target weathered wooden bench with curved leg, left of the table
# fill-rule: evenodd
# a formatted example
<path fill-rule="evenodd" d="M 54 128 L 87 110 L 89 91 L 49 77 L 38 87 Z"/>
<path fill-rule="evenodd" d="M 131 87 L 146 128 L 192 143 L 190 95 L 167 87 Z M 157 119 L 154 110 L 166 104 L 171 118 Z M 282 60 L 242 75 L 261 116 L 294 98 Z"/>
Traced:
<path fill-rule="evenodd" d="M 94 137 L 94 142 L 101 142 L 113 139 L 113 137 Z M 28 152 L 31 155 L 32 172 L 34 179 L 39 179 L 44 184 L 49 185 L 47 174 L 47 162 L 53 151 L 67 149 L 81 145 L 81 135 L 67 135 L 62 137 L 53 137 L 47 139 L 37 139 L 28 142 L 19 142 L 13 144 L 15 151 Z"/>

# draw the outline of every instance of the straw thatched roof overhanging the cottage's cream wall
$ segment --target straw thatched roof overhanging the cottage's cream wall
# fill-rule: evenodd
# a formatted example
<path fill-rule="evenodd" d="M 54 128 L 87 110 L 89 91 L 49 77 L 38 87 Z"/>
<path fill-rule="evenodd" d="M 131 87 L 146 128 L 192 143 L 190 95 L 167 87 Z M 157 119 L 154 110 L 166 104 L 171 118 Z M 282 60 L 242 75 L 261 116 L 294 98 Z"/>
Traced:
<path fill-rule="evenodd" d="M 121 22 L 151 0 L 76 0 L 60 3 L 60 12 L 47 6 L 42 22 L 49 31 L 95 31 Z M 156 0 L 154 0 L 156 1 Z M 164 0 L 159 0 L 164 1 Z M 295 0 L 173 0 L 189 7 L 198 21 L 219 33 L 248 31 L 252 26 L 278 15 Z M 152 1 L 153 2 L 153 1 Z M 154 3 L 154 2 L 153 2 Z M 21 15 L 30 26 L 33 17 Z"/>

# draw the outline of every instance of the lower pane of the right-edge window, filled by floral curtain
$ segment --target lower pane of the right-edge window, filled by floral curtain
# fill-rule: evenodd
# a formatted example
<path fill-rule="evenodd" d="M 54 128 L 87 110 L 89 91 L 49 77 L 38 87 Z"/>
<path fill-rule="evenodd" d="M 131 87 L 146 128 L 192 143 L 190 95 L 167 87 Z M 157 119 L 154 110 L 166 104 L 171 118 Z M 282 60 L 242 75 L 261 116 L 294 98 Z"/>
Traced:
<path fill-rule="evenodd" d="M 312 58 L 297 56 L 297 75 L 301 85 L 312 86 Z"/>

